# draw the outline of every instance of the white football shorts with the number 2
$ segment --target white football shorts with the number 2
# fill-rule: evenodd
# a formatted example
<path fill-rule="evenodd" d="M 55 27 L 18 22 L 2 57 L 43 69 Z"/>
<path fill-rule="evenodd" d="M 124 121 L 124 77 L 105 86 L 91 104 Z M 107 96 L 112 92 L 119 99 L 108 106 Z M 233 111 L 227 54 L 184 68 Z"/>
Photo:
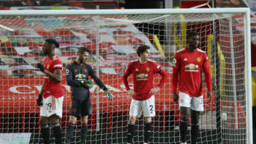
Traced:
<path fill-rule="evenodd" d="M 142 111 L 144 117 L 156 116 L 154 95 L 143 101 L 132 99 L 129 116 L 137 116 L 139 118 L 142 116 Z"/>

